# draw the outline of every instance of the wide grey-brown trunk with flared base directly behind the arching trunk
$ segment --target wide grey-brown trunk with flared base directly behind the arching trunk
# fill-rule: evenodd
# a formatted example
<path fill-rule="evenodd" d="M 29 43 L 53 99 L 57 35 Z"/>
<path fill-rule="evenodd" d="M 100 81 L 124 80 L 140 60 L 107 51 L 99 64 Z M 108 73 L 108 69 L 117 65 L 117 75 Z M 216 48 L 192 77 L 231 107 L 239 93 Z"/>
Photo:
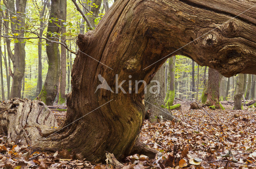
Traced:
<path fill-rule="evenodd" d="M 146 90 L 144 103 L 145 111 L 149 112 L 150 122 L 156 123 L 158 119 L 172 120 L 172 114 L 167 109 L 162 108 L 164 105 L 164 65 L 156 72 L 151 83 L 146 86 Z"/>

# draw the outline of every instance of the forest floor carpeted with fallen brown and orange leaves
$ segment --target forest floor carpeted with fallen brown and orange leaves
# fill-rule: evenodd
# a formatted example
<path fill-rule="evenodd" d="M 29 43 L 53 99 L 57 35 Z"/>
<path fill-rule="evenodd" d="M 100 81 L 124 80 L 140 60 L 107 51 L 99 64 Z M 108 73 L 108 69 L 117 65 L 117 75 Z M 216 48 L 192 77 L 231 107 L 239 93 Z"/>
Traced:
<path fill-rule="evenodd" d="M 148 159 L 141 154 L 131 155 L 120 161 L 125 165 L 123 168 L 256 169 L 255 108 L 244 106 L 244 110 L 232 110 L 232 102 L 225 101 L 222 102 L 225 110 L 189 110 L 190 101 L 176 102 L 182 104 L 182 110 L 174 110 L 172 113 L 180 122 L 151 124 L 145 120 L 142 126 L 140 139 L 159 151 L 156 159 Z M 61 123 L 66 112 L 56 109 L 53 112 Z M 68 150 L 56 153 L 35 152 L 27 147 L 8 146 L 6 136 L 1 136 L 0 168 L 114 168 L 111 164 L 90 163 L 82 157 L 73 160 Z"/>

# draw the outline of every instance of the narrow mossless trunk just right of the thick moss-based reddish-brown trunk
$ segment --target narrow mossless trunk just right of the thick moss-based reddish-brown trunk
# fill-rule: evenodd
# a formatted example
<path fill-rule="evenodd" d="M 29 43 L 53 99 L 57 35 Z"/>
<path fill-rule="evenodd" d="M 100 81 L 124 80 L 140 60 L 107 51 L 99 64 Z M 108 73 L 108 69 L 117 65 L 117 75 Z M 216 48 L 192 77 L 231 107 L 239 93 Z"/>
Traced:
<path fill-rule="evenodd" d="M 242 109 L 242 95 L 244 94 L 244 75 L 238 74 L 236 82 L 236 91 L 234 95 L 234 110 Z"/>

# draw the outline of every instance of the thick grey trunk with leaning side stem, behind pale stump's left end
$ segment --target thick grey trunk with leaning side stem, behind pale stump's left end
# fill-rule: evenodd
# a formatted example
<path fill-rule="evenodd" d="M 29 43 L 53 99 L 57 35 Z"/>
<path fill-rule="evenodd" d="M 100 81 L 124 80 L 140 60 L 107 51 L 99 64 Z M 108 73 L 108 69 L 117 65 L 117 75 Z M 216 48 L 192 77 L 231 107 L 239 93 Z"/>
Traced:
<path fill-rule="evenodd" d="M 4 1 L 6 2 L 6 1 Z M 20 37 L 24 37 L 25 28 L 25 9 L 27 0 L 16 1 L 14 5 L 14 0 L 9 0 L 5 5 L 11 11 L 9 12 L 11 22 L 12 33 L 18 34 Z M 22 79 L 25 73 L 25 43 L 22 39 L 16 39 L 17 42 L 14 43 L 14 55 L 10 47 L 8 47 L 8 53 L 13 64 L 13 74 L 12 77 L 12 89 L 10 97 L 21 97 Z M 10 42 L 7 42 L 10 43 Z M 7 46 L 10 46 L 7 45 Z"/>

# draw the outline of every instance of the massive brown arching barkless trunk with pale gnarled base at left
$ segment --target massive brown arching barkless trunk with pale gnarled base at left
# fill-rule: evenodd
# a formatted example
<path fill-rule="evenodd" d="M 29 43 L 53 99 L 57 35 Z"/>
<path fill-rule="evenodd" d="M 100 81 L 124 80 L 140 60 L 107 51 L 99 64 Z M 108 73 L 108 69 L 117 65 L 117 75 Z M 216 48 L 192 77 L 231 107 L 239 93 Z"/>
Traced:
<path fill-rule="evenodd" d="M 237 73 L 256 74 L 256 41 L 253 37 L 256 34 L 256 11 L 244 12 L 255 4 L 249 0 L 116 1 L 94 31 L 78 36 L 77 43 L 82 52 L 74 61 L 73 88 L 67 96 L 68 111 L 62 127 L 79 120 L 53 134 L 57 130 L 50 128 L 54 126 L 54 121 L 52 124 L 49 121 L 53 116 L 47 118 L 47 123 L 42 121 L 44 118 L 41 117 L 49 112 L 40 111 L 38 117 L 36 107 L 33 109 L 32 106 L 32 110 L 24 107 L 30 106 L 31 101 L 18 101 L 18 105 L 13 103 L 9 107 L 3 107 L 7 103 L 2 104 L 1 114 L 10 110 L 12 113 L 5 113 L 6 116 L 17 116 L 22 109 L 21 114 L 30 111 L 29 118 L 38 119 L 38 122 L 19 128 L 18 137 L 30 145 L 37 143 L 35 148 L 72 149 L 92 161 L 103 160 L 105 151 L 114 153 L 118 159 L 125 157 L 135 145 L 144 119 L 144 86 L 140 83 L 136 93 L 134 81 L 149 83 L 167 59 L 166 55 L 202 36 L 180 49 L 184 55 L 190 55 L 201 66 L 218 69 L 226 77 Z M 244 13 L 231 21 L 239 12 Z M 122 85 L 126 94 L 118 90 L 116 74 L 119 85 L 126 80 Z M 100 85 L 98 77 L 107 82 L 113 92 L 110 88 L 95 92 Z M 132 81 L 131 94 L 128 93 L 129 80 Z M 12 126 L 6 127 L 5 131 L 15 135 L 13 120 L 18 118 L 9 119 Z M 23 125 L 26 122 L 17 123 Z M 39 125 L 43 123 L 45 125 Z M 42 138 L 45 139 L 38 142 Z M 10 135 L 8 140 L 17 140 L 17 137 Z"/>

